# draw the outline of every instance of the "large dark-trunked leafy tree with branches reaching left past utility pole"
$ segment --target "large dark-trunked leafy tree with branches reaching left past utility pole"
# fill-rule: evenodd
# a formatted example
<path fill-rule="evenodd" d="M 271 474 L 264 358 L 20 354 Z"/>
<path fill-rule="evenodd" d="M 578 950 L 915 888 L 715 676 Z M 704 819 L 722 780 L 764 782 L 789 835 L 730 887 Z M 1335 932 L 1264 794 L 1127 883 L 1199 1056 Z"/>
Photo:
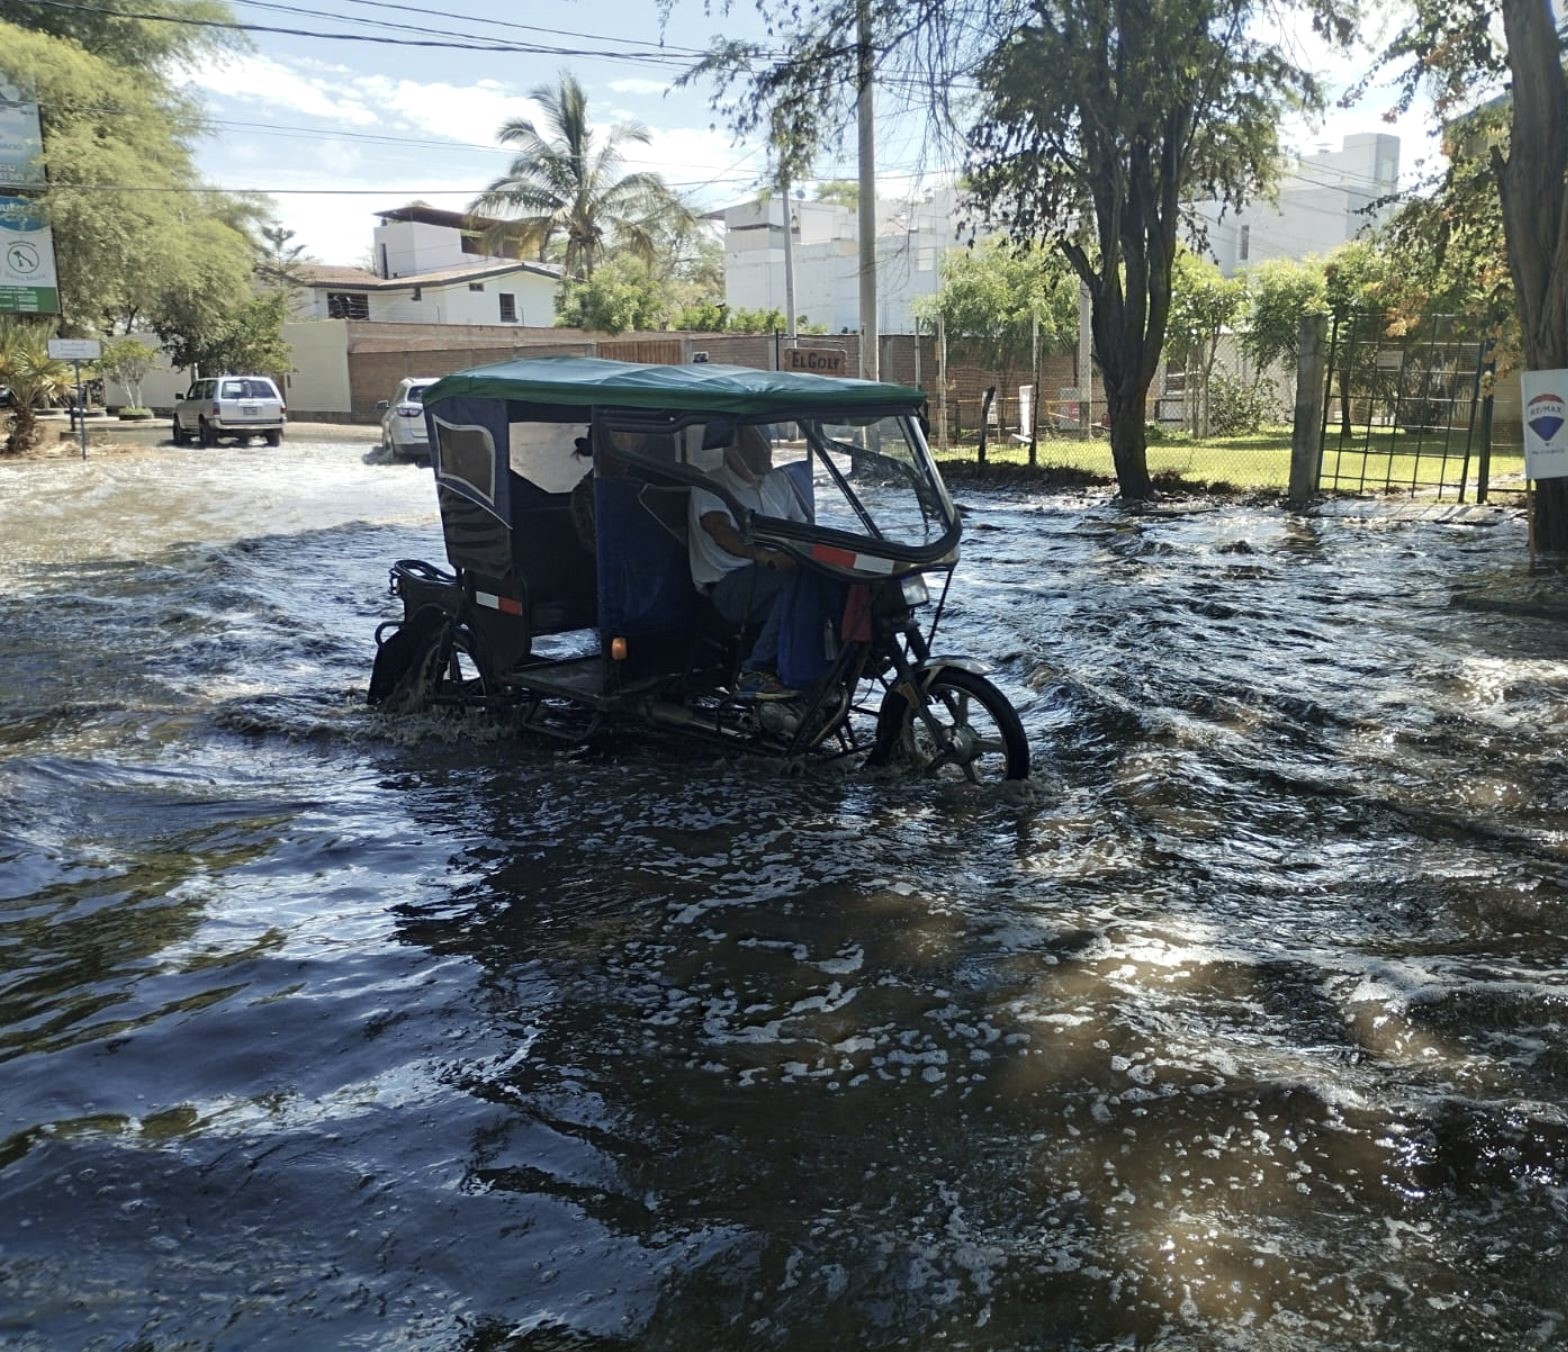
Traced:
<path fill-rule="evenodd" d="M 1286 108 L 1322 104 L 1265 36 L 1262 0 L 869 0 L 883 77 L 925 91 L 961 130 L 971 201 L 1016 243 L 1058 246 L 1093 300 L 1094 358 L 1124 497 L 1152 496 L 1145 411 L 1170 318 L 1184 202 L 1237 205 L 1278 162 Z M 1350 39 L 1348 0 L 1298 0 Z M 765 44 L 723 42 L 699 67 L 739 132 L 784 110 L 836 125 L 856 86 L 856 9 L 803 0 Z M 779 60 L 779 49 L 786 60 Z M 971 91 L 977 86 L 977 93 Z"/>

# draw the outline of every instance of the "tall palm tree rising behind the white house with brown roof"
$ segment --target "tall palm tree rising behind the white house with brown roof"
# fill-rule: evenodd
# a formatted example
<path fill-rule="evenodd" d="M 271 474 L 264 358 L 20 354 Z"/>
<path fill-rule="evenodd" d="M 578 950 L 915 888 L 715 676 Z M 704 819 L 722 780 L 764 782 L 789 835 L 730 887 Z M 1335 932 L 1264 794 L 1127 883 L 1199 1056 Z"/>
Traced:
<path fill-rule="evenodd" d="M 516 146 L 517 157 L 469 210 L 508 213 L 511 218 L 494 234 L 538 249 L 541 259 L 555 238 L 564 237 L 566 276 L 574 281 L 591 278 L 613 248 L 651 263 L 655 227 L 668 229 L 671 221 L 693 216 L 659 174 L 619 174 L 621 147 L 646 146 L 648 129 L 629 122 L 608 132 L 591 130 L 588 99 L 566 72 L 558 88 L 541 85 L 528 97 L 544 108 L 544 130 L 524 118 L 500 129 L 500 143 Z"/>

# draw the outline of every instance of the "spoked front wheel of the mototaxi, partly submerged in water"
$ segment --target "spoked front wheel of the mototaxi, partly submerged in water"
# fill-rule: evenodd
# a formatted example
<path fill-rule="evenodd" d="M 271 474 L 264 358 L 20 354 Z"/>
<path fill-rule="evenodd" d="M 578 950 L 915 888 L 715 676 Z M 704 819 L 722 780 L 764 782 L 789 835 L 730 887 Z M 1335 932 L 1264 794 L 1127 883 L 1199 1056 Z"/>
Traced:
<path fill-rule="evenodd" d="M 924 695 L 930 721 L 898 689 L 887 692 L 872 764 L 971 784 L 1029 778 L 1024 725 L 985 676 L 942 667 L 927 679 Z"/>

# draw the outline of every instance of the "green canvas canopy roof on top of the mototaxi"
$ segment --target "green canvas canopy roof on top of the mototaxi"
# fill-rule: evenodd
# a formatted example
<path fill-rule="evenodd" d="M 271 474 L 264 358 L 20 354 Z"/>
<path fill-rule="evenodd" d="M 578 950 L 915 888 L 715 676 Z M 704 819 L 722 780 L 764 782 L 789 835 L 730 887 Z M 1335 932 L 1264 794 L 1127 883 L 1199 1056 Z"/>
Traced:
<path fill-rule="evenodd" d="M 914 409 L 925 395 L 902 384 L 743 365 L 640 365 L 593 356 L 539 356 L 463 370 L 425 391 L 426 408 L 447 398 L 790 417 Z"/>

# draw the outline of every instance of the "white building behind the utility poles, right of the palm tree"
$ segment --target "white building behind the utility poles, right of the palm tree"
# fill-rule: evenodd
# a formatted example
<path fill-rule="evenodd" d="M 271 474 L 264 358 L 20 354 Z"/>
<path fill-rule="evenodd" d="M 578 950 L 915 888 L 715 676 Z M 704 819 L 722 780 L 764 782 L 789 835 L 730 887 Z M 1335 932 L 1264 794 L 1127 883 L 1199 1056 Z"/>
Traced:
<path fill-rule="evenodd" d="M 784 306 L 784 199 L 713 212 L 724 224 L 724 303 L 731 309 Z M 877 323 L 914 331 L 914 300 L 938 284 L 938 257 L 958 245 L 956 198 L 944 188 L 916 202 L 877 202 Z M 836 202 L 790 202 L 795 315 L 831 333 L 859 329 L 859 216 Z"/>

